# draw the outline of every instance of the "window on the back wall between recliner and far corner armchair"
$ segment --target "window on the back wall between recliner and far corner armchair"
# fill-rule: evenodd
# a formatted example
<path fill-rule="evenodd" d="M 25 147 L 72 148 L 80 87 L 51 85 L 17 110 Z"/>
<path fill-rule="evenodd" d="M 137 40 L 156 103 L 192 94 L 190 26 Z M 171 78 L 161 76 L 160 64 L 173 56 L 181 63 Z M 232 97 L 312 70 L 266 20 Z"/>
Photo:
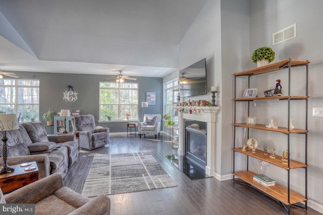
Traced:
<path fill-rule="evenodd" d="M 100 82 L 99 94 L 99 120 L 138 119 L 137 83 Z"/>

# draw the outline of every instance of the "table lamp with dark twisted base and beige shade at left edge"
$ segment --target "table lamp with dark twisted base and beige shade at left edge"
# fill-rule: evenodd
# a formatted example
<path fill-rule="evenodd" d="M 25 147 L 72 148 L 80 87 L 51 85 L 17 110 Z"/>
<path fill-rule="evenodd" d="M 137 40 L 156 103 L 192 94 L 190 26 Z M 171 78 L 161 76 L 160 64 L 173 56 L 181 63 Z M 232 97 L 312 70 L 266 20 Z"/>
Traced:
<path fill-rule="evenodd" d="M 6 135 L 7 130 L 15 130 L 19 129 L 17 115 L 16 114 L 0 114 L 0 131 L 3 131 L 4 136 L 2 137 L 2 141 L 4 143 L 2 157 L 4 159 L 4 164 L 0 168 L 0 174 L 4 174 L 7 172 L 14 171 L 14 168 L 8 166 L 7 157 L 8 157 L 8 149 L 7 149 L 7 141 L 8 137 Z"/>

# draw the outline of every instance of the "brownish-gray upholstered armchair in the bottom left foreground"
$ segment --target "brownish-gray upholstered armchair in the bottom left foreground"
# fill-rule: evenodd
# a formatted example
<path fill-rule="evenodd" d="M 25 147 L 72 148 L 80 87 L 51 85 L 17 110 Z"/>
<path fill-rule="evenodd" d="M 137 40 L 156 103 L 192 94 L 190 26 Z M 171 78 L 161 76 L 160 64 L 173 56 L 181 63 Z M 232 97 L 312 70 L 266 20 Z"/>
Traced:
<path fill-rule="evenodd" d="M 85 197 L 64 187 L 62 176 L 54 173 L 3 195 L 0 203 L 35 204 L 35 214 L 110 214 L 110 198 L 99 195 Z"/>

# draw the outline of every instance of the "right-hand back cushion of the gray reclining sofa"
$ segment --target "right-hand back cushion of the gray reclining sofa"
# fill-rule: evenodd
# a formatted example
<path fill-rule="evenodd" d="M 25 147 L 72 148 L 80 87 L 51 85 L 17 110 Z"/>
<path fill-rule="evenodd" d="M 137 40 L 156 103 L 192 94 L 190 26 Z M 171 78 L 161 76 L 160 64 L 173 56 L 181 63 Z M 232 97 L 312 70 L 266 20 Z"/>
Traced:
<path fill-rule="evenodd" d="M 23 123 L 22 124 L 32 142 L 48 142 L 47 132 L 45 126 L 41 122 Z"/>

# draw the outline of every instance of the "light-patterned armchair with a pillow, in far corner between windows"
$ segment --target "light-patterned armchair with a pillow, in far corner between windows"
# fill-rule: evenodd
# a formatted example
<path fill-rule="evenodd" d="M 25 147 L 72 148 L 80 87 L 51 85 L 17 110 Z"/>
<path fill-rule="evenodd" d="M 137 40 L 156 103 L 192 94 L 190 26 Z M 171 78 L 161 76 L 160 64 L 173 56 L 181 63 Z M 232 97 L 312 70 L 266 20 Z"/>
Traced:
<path fill-rule="evenodd" d="M 160 132 L 160 119 L 160 114 L 144 114 L 143 122 L 138 124 L 139 138 L 141 138 L 141 135 L 154 134 L 156 139 Z"/>

